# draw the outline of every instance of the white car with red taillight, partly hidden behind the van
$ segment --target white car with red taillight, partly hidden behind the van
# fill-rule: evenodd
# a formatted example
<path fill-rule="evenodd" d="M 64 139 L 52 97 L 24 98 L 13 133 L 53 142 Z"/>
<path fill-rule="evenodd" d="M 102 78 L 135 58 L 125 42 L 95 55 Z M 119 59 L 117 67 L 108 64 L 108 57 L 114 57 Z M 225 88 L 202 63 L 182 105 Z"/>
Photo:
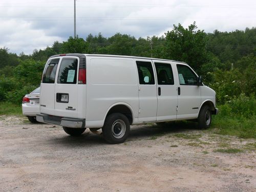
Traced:
<path fill-rule="evenodd" d="M 22 99 L 22 112 L 31 123 L 36 123 L 36 114 L 39 113 L 40 87 Z"/>

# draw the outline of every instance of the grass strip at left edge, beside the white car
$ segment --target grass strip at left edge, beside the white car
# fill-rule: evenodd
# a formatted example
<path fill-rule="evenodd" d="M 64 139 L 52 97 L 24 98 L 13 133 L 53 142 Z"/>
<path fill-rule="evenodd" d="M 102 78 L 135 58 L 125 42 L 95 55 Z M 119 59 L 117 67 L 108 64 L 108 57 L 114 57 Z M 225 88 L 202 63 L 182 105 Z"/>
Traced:
<path fill-rule="evenodd" d="M 22 115 L 22 106 L 10 102 L 0 102 L 0 115 Z"/>

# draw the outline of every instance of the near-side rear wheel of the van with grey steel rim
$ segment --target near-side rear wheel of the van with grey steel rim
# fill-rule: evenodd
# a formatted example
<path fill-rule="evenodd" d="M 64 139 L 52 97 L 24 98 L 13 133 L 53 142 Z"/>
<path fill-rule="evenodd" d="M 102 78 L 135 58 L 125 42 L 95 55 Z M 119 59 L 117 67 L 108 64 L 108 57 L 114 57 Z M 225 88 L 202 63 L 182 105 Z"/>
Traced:
<path fill-rule="evenodd" d="M 106 117 L 102 133 L 111 144 L 123 143 L 130 133 L 130 122 L 125 115 L 112 113 Z"/>

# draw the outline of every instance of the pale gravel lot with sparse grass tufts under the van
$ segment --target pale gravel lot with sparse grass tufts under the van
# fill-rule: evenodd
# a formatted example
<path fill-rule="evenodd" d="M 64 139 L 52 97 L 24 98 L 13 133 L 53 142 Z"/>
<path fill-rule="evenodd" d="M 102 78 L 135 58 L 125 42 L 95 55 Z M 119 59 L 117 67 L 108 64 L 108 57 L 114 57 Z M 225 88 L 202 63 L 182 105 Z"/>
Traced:
<path fill-rule="evenodd" d="M 0 116 L 0 191 L 256 191 L 255 140 L 194 127 L 136 125 L 110 145 Z"/>

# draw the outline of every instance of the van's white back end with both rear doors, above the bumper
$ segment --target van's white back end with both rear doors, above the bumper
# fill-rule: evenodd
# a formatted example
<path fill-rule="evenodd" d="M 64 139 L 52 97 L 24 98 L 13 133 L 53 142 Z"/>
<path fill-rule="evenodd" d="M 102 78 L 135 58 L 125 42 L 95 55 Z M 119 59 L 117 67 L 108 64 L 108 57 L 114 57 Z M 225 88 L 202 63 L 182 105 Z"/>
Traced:
<path fill-rule="evenodd" d="M 86 118 L 86 56 L 65 54 L 50 57 L 45 67 L 40 113 Z"/>

